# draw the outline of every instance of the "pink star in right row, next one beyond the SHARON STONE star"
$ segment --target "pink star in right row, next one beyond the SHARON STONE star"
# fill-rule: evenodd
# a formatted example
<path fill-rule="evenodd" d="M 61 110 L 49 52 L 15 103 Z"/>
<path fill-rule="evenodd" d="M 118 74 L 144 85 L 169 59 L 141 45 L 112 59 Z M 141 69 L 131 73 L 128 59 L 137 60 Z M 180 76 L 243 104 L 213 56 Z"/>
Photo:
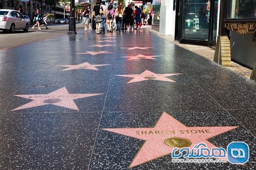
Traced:
<path fill-rule="evenodd" d="M 174 80 L 171 80 L 169 78 L 165 78 L 171 75 L 179 75 L 182 73 L 176 73 L 176 74 L 156 74 L 153 73 L 149 70 L 144 71 L 141 74 L 130 74 L 130 75 L 118 75 L 118 76 L 123 76 L 123 77 L 130 77 L 133 78 L 132 80 L 130 80 L 128 83 L 134 83 L 134 82 L 138 82 L 138 81 L 144 81 L 144 80 L 160 80 L 160 81 L 169 81 L 169 82 L 176 82 Z"/>

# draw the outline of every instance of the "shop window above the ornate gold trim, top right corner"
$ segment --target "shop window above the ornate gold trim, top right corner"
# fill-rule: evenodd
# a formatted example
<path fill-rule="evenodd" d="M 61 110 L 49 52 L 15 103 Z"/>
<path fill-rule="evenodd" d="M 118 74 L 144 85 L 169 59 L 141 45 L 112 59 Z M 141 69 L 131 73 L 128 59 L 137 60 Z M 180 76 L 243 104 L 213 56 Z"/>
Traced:
<path fill-rule="evenodd" d="M 228 19 L 256 18 L 256 0 L 230 0 Z"/>

